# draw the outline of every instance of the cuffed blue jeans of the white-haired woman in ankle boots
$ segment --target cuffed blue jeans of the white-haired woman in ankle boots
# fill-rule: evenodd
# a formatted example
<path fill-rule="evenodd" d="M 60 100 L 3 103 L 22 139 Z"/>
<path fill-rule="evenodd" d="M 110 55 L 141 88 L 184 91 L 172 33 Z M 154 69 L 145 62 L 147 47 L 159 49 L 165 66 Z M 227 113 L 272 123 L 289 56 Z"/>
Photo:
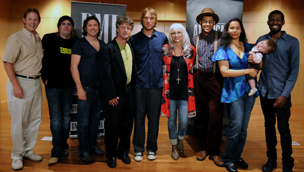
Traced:
<path fill-rule="evenodd" d="M 188 101 L 170 100 L 170 117 L 168 118 L 168 131 L 171 145 L 177 145 L 177 138 L 184 139 L 188 126 Z M 176 117 L 178 110 L 178 132 Z"/>

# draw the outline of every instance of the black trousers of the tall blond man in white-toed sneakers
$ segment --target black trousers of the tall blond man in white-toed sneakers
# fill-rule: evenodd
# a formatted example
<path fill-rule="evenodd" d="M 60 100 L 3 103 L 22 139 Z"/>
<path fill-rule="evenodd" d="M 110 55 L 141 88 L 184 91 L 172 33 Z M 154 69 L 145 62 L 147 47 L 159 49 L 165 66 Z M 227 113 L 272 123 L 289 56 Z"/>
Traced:
<path fill-rule="evenodd" d="M 135 89 L 133 146 L 135 152 L 144 151 L 145 116 L 148 119 L 146 150 L 156 152 L 163 88 Z"/>

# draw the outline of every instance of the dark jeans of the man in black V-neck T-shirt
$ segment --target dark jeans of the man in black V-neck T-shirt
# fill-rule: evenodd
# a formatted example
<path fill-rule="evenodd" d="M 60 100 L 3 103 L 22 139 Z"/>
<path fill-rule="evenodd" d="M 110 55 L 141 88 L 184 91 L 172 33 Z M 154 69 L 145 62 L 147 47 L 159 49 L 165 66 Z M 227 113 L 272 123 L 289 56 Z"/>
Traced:
<path fill-rule="evenodd" d="M 84 87 L 87 101 L 78 99 L 77 135 L 79 140 L 78 152 L 89 152 L 97 144 L 98 126 L 102 110 L 101 89 Z"/>

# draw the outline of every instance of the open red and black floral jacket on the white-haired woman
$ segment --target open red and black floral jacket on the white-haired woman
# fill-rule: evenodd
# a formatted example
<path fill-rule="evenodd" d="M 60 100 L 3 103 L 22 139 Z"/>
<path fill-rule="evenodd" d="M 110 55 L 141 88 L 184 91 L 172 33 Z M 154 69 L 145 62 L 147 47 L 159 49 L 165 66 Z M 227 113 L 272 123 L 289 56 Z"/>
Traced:
<path fill-rule="evenodd" d="M 161 106 L 161 116 L 170 117 L 169 102 L 170 102 L 170 64 L 173 57 L 168 50 L 169 45 L 163 46 L 163 97 Z M 195 100 L 194 100 L 194 84 L 193 84 L 193 64 L 196 55 L 196 50 L 193 46 L 189 46 L 188 51 L 183 54 L 188 70 L 188 117 L 196 116 Z"/>

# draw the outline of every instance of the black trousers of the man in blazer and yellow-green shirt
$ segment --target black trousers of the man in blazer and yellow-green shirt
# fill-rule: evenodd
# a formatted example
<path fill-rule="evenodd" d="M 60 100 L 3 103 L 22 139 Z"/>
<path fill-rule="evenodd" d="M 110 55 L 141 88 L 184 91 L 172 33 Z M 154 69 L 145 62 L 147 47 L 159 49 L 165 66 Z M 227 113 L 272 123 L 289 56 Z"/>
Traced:
<path fill-rule="evenodd" d="M 128 155 L 130 151 L 134 115 L 133 95 L 130 85 L 126 89 L 125 95 L 125 97 L 119 97 L 116 106 L 109 105 L 108 101 L 106 102 L 104 143 L 107 158 Z"/>

